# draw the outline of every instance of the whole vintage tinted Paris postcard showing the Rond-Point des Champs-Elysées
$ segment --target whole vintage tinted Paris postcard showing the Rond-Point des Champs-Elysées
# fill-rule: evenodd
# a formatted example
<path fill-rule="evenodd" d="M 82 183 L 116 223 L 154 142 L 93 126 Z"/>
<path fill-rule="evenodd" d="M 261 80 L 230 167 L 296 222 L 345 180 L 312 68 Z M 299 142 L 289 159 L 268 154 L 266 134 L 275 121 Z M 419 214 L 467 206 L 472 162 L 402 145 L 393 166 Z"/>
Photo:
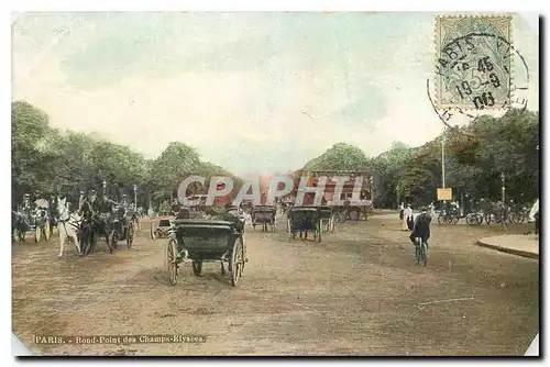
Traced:
<path fill-rule="evenodd" d="M 539 18 L 25 12 L 16 355 L 537 354 Z"/>

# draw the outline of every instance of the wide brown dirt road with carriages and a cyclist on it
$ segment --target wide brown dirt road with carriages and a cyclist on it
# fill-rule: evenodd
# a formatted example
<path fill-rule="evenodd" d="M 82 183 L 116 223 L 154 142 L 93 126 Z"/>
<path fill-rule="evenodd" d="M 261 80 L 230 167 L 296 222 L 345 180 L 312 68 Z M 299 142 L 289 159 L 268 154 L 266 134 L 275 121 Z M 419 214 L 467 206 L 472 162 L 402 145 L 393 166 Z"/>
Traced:
<path fill-rule="evenodd" d="M 13 245 L 13 331 L 46 355 L 522 355 L 539 323 L 539 263 L 474 242 L 497 226 L 432 225 L 426 268 L 397 215 L 341 225 L 322 243 L 246 233 L 237 288 L 206 264 L 170 287 L 166 240 L 57 258 Z M 147 229 L 148 224 L 144 224 Z M 459 299 L 459 300 L 457 300 Z M 206 343 L 36 345 L 33 335 L 197 334 Z"/>

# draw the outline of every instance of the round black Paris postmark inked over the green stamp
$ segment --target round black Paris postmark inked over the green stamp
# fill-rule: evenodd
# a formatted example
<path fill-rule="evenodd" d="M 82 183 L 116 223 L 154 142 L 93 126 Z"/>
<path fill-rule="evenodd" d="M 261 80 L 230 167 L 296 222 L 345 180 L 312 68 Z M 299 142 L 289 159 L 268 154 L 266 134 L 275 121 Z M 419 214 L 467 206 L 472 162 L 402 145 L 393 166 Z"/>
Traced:
<path fill-rule="evenodd" d="M 447 127 L 454 129 L 451 119 L 471 121 L 487 110 L 527 108 L 529 67 L 503 35 L 471 32 L 455 38 L 448 35 L 444 41 L 436 62 L 435 82 L 428 79 L 427 89 L 433 110 Z M 432 85 L 437 101 L 431 96 Z"/>

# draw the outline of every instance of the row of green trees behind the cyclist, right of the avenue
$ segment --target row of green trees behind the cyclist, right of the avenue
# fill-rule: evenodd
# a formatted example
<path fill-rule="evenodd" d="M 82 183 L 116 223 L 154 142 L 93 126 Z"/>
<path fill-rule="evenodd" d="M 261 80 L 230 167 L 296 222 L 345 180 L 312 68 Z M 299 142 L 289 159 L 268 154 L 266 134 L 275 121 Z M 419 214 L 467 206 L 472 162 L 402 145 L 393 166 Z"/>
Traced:
<path fill-rule="evenodd" d="M 427 204 L 437 200 L 442 185 L 443 135 L 420 147 L 394 143 L 369 158 L 358 147 L 339 143 L 302 169 L 371 171 L 375 205 L 395 208 L 399 201 Z M 480 116 L 463 127 L 450 129 L 446 138 L 446 187 L 455 200 L 490 199 L 528 203 L 539 192 L 539 114 L 509 110 L 501 118 Z"/>

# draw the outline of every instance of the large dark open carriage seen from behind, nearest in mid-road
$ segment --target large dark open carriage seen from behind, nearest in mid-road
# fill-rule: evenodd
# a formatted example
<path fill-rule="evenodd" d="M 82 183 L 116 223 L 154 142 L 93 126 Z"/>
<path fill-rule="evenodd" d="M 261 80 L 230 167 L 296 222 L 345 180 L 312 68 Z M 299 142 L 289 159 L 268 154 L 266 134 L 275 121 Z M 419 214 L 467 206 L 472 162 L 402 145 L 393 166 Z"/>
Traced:
<path fill-rule="evenodd" d="M 229 278 L 237 286 L 246 259 L 243 225 L 224 220 L 176 220 L 170 231 L 167 248 L 169 283 L 175 286 L 183 262 L 193 263 L 193 273 L 200 276 L 202 264 L 220 262 L 221 274 L 226 274 L 224 263 L 229 263 Z"/>

